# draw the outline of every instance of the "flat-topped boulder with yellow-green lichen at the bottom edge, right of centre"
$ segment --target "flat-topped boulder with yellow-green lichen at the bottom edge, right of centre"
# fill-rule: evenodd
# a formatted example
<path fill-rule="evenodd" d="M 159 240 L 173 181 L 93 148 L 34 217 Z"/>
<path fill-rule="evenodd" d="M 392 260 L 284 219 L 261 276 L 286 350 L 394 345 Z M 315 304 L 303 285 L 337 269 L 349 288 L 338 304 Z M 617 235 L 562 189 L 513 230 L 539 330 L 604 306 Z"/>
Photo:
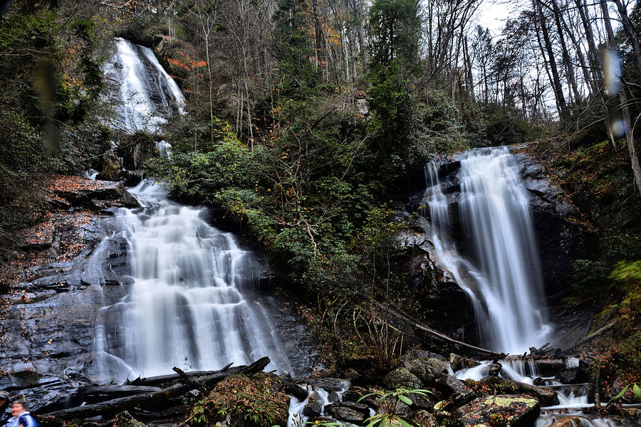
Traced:
<path fill-rule="evenodd" d="M 485 396 L 459 408 L 455 416 L 461 426 L 533 427 L 540 413 L 538 401 L 514 395 Z"/>

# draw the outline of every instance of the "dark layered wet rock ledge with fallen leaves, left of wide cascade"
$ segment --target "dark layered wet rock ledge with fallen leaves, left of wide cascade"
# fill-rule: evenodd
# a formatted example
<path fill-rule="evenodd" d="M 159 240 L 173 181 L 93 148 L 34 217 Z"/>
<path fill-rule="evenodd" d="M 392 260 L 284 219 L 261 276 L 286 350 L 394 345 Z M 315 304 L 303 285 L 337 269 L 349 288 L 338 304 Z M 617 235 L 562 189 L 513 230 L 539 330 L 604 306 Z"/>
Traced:
<path fill-rule="evenodd" d="M 121 182 L 81 176 L 51 176 L 44 192 L 48 211 L 0 265 L 0 389 L 34 410 L 86 380 L 96 312 L 129 274 L 127 243 L 100 242 L 115 231 L 114 209 L 140 206 Z"/>

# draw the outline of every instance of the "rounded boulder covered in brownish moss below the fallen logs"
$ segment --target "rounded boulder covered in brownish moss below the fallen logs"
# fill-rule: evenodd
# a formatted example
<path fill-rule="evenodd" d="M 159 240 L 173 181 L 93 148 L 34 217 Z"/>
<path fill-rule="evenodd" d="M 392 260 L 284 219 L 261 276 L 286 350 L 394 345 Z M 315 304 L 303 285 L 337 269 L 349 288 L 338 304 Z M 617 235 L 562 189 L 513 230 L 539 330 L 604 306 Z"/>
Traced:
<path fill-rule="evenodd" d="M 252 376 L 229 376 L 194 405 L 192 425 L 286 426 L 289 399 L 276 375 L 261 372 Z"/>

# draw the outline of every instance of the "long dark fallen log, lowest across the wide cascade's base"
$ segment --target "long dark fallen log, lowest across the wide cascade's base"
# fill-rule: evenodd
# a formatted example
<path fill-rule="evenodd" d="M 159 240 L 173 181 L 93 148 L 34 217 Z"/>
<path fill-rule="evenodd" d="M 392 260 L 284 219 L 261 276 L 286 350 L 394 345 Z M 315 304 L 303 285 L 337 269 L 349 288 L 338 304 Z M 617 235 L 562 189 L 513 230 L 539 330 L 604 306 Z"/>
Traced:
<path fill-rule="evenodd" d="M 193 378 L 194 384 L 199 387 L 209 388 L 218 384 L 220 381 L 226 379 L 228 376 L 236 374 L 256 374 L 263 371 L 269 364 L 269 358 L 263 357 L 249 366 L 234 367 L 226 369 L 222 372 L 217 372 L 211 375 L 196 376 Z M 89 418 L 99 415 L 113 415 L 118 412 L 125 411 L 130 408 L 137 408 L 140 406 L 158 404 L 166 401 L 172 397 L 178 397 L 187 391 L 194 389 L 189 384 L 174 384 L 160 391 L 145 392 L 135 394 L 133 396 L 120 397 L 118 399 L 111 399 L 96 404 L 88 404 L 85 406 L 77 406 L 75 408 L 63 409 L 61 411 L 54 411 L 46 413 L 46 416 L 53 416 L 56 418 L 72 419 L 72 418 Z"/>

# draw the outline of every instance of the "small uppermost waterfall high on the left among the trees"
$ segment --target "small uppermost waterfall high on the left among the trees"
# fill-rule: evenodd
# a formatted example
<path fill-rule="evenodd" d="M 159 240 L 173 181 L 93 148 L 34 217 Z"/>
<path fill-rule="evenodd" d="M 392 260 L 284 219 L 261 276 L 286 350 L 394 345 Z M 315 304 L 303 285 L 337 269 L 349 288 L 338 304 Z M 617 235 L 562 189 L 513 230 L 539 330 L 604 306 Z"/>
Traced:
<path fill-rule="evenodd" d="M 184 97 L 150 48 L 116 38 L 115 53 L 105 65 L 113 85 L 113 127 L 126 132 L 157 132 L 174 110 L 182 113 Z"/>

